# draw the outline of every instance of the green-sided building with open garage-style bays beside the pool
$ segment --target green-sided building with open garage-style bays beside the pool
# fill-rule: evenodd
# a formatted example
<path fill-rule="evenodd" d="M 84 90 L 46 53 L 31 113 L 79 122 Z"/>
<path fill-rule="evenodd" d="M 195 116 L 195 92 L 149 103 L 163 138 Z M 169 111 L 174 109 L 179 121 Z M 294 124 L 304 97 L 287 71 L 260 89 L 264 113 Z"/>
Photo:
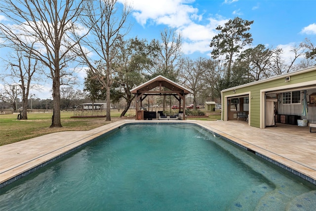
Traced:
<path fill-rule="evenodd" d="M 247 121 L 249 126 L 259 128 L 276 123 L 316 123 L 316 66 L 221 93 L 223 121 Z"/>

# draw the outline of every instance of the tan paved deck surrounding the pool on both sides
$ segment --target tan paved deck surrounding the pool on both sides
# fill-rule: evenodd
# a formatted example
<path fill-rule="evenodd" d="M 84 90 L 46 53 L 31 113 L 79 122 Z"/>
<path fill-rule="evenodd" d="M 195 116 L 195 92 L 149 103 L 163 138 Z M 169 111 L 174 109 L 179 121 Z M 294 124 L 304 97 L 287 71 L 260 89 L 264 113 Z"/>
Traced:
<path fill-rule="evenodd" d="M 0 187 L 9 184 L 41 165 L 57 159 L 70 150 L 126 123 L 153 123 L 179 121 L 120 120 L 88 131 L 63 131 L 0 146 Z M 244 121 L 195 121 L 194 123 L 240 144 L 251 151 L 272 159 L 282 168 L 289 167 L 301 177 L 305 175 L 316 185 L 316 133 L 309 127 L 277 125 L 260 129 Z M 302 174 L 302 175 L 300 175 Z"/>

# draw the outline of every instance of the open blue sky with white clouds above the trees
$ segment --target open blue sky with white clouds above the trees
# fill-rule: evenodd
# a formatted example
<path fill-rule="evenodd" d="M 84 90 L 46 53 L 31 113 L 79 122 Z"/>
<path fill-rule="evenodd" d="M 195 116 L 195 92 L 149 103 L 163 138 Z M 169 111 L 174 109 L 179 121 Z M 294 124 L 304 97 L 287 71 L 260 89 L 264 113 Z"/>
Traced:
<path fill-rule="evenodd" d="M 182 50 L 191 58 L 210 58 L 209 44 L 219 33 L 215 28 L 235 17 L 254 21 L 249 31 L 253 47 L 280 47 L 287 59 L 291 57 L 290 48 L 305 38 L 316 43 L 316 0 L 118 0 L 124 1 L 133 8 L 129 17 L 132 27 L 126 38 L 137 36 L 150 42 L 159 40 L 164 29 L 173 28 L 181 33 Z M 1 57 L 4 54 L 0 52 Z M 78 77 L 80 84 L 74 88 L 82 89 L 85 72 L 79 72 Z M 41 91 L 31 93 L 46 99 L 52 98 L 50 90 L 51 84 L 46 81 Z"/>

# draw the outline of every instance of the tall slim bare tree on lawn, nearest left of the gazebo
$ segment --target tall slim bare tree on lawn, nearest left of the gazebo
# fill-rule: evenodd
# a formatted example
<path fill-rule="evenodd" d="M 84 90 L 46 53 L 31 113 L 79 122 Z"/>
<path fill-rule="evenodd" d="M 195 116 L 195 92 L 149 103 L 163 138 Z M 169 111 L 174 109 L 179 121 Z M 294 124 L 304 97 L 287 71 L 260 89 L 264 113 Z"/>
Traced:
<path fill-rule="evenodd" d="M 83 25 L 91 27 L 91 37 L 82 40 L 78 45 L 77 54 L 83 63 L 88 65 L 90 71 L 99 78 L 99 82 L 106 87 L 107 115 L 106 121 L 111 121 L 111 85 L 112 85 L 112 61 L 116 56 L 116 43 L 128 33 L 127 17 L 131 7 L 124 4 L 121 12 L 118 12 L 118 0 L 86 1 L 85 18 Z M 93 62 L 89 57 L 88 47 L 96 54 L 98 62 Z M 98 63 L 105 63 L 105 68 L 98 68 Z M 105 80 L 104 80 L 105 78 Z"/>

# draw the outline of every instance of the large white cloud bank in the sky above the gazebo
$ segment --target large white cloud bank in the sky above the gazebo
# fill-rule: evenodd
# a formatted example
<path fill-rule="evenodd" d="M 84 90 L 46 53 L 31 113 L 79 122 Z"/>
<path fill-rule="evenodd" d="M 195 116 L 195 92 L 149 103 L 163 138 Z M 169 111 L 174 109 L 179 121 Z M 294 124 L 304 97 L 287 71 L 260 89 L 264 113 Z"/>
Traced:
<path fill-rule="evenodd" d="M 119 1 L 123 2 L 123 0 Z M 184 53 L 210 51 L 210 41 L 218 33 L 215 28 L 224 25 L 228 20 L 221 16 L 203 20 L 203 14 L 199 14 L 197 8 L 189 5 L 189 1 L 194 0 L 130 0 L 129 2 L 132 3 L 133 16 L 139 24 L 166 25 L 181 33 Z M 234 1 L 236 0 L 232 0 Z M 205 21 L 208 23 L 205 24 Z"/>

